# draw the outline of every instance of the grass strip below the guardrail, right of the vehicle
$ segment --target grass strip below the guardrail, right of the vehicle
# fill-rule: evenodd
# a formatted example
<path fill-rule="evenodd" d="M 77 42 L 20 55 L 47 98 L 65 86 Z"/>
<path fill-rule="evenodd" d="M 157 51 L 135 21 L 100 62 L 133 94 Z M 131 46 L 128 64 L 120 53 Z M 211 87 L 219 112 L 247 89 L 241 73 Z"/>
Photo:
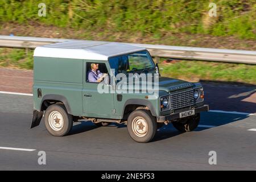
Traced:
<path fill-rule="evenodd" d="M 159 64 L 162 76 L 188 81 L 228 81 L 256 85 L 256 65 L 178 60 Z"/>

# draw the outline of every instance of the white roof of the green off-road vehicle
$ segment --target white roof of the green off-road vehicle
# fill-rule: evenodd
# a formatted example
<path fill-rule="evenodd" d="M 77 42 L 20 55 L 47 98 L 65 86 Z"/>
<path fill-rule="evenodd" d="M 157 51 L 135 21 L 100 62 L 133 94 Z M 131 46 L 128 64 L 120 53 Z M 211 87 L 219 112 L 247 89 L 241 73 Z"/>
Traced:
<path fill-rule="evenodd" d="M 145 48 L 123 43 L 86 40 L 68 40 L 35 48 L 36 57 L 60 57 L 69 59 L 108 60 L 109 57 L 143 51 Z"/>

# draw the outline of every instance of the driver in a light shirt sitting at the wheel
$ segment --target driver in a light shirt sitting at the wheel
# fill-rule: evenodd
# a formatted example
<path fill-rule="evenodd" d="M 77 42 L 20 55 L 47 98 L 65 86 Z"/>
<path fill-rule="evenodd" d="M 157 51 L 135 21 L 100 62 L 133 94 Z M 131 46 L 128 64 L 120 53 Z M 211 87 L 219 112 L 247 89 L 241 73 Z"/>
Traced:
<path fill-rule="evenodd" d="M 101 82 L 108 74 L 101 73 L 98 70 L 98 63 L 90 64 L 90 71 L 87 73 L 88 81 L 89 82 Z"/>

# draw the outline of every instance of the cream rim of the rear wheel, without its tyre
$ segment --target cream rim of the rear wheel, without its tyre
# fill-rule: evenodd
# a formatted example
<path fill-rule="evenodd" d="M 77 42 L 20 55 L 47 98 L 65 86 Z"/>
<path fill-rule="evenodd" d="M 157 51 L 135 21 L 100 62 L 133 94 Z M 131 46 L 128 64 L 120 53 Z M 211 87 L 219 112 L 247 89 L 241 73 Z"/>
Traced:
<path fill-rule="evenodd" d="M 63 116 L 58 111 L 52 111 L 49 114 L 48 122 L 52 130 L 60 131 L 63 128 Z"/>

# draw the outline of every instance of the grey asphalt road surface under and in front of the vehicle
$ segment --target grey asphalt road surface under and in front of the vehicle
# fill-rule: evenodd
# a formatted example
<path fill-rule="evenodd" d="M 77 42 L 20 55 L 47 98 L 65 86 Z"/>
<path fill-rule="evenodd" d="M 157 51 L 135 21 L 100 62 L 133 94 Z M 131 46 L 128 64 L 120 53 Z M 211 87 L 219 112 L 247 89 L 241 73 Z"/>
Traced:
<path fill-rule="evenodd" d="M 230 100 L 246 100 L 248 94 Z M 255 115 L 202 113 L 195 131 L 180 133 L 170 124 L 150 143 L 134 142 L 126 125 L 97 127 L 85 121 L 75 123 L 66 137 L 52 137 L 43 120 L 30 129 L 31 117 L 31 96 L 0 93 L 0 170 L 256 169 Z M 46 152 L 46 164 L 38 163 L 40 151 Z M 217 164 L 209 164 L 210 151 L 216 152 Z"/>

